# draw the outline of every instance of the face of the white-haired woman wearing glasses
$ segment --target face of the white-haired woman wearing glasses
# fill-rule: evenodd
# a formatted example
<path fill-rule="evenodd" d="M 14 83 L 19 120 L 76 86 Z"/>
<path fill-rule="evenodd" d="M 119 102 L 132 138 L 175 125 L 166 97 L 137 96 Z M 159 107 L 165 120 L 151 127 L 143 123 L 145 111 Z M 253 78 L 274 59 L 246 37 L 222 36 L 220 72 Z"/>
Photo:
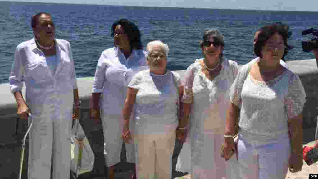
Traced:
<path fill-rule="evenodd" d="M 147 57 L 149 68 L 156 70 L 164 70 L 167 66 L 167 56 L 160 46 L 155 46 Z"/>

